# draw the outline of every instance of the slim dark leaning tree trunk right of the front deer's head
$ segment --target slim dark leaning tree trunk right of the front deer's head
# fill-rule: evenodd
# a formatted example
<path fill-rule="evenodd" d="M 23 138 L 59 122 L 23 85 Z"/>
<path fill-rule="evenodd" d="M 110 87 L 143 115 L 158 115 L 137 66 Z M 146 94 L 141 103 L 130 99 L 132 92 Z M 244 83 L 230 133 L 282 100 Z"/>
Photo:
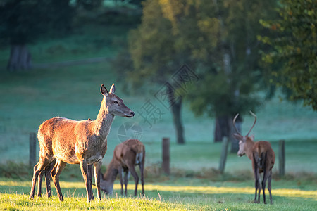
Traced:
<path fill-rule="evenodd" d="M 184 138 L 184 129 L 182 127 L 182 97 L 175 96 L 175 93 L 171 87 L 167 87 L 168 90 L 168 98 L 170 102 L 170 108 L 173 114 L 173 122 L 176 130 L 176 139 L 178 144 L 185 144 Z"/>

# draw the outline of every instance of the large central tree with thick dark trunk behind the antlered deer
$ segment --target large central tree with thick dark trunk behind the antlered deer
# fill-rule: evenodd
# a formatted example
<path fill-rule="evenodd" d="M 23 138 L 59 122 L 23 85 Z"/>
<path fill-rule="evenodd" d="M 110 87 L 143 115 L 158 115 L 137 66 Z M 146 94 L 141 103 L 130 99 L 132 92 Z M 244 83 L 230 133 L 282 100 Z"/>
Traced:
<path fill-rule="evenodd" d="M 187 95 L 192 110 L 197 115 L 216 116 L 220 127 L 215 135 L 220 134 L 219 139 L 228 136 L 231 151 L 237 152 L 238 142 L 231 136 L 232 117 L 254 110 L 261 101 L 256 96 L 262 88 L 256 34 L 263 31 L 259 19 L 271 15 L 274 2 L 159 2 L 173 27 L 176 52 L 187 52 L 182 58 L 194 64 L 201 78 Z"/>

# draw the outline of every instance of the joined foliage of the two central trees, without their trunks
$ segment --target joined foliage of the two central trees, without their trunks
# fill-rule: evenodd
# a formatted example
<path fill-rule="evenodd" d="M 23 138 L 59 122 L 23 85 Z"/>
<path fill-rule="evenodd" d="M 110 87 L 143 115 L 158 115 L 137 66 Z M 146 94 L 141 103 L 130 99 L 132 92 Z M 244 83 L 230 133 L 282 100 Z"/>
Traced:
<path fill-rule="evenodd" d="M 187 99 L 197 115 L 232 115 L 259 106 L 263 86 L 259 19 L 272 1 L 145 1 L 142 24 L 132 30 L 132 84 L 168 81 L 187 63 L 200 77 Z M 225 56 L 228 60 L 225 61 Z"/>

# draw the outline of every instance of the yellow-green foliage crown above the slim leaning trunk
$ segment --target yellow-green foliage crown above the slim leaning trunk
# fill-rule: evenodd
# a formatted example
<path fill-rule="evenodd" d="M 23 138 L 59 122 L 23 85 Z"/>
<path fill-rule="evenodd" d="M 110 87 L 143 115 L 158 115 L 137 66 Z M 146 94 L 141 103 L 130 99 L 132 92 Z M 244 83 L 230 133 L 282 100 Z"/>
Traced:
<path fill-rule="evenodd" d="M 132 30 L 128 39 L 135 70 L 127 72 L 127 78 L 135 87 L 146 84 L 146 80 L 163 84 L 177 70 L 178 61 L 170 59 L 175 53 L 175 39 L 170 28 L 168 20 L 163 18 L 159 1 L 144 2 L 142 25 Z"/>

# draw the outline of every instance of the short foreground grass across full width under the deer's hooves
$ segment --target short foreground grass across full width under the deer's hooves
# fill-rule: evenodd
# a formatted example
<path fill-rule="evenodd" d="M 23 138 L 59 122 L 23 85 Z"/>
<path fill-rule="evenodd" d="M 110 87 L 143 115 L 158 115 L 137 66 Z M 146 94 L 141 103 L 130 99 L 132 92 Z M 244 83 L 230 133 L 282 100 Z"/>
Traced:
<path fill-rule="evenodd" d="M 273 187 L 285 186 L 284 182 L 275 181 Z M 59 203 L 55 189 L 52 190 L 54 196 L 51 199 L 43 196 L 29 200 L 30 181 L 0 179 L 0 209 L 44 210 L 46 207 L 55 207 L 56 210 L 314 210 L 316 207 L 316 190 L 276 187 L 272 191 L 273 205 L 254 204 L 254 188 L 249 185 L 249 182 L 220 184 L 204 179 L 183 178 L 175 179 L 173 184 L 170 181 L 146 184 L 144 197 L 122 198 L 118 196 L 120 185 L 115 184 L 113 196 L 103 194 L 101 202 L 94 200 L 87 203 L 83 182 L 61 181 L 65 201 Z M 132 194 L 133 188 L 134 184 L 130 182 L 128 195 Z"/>

